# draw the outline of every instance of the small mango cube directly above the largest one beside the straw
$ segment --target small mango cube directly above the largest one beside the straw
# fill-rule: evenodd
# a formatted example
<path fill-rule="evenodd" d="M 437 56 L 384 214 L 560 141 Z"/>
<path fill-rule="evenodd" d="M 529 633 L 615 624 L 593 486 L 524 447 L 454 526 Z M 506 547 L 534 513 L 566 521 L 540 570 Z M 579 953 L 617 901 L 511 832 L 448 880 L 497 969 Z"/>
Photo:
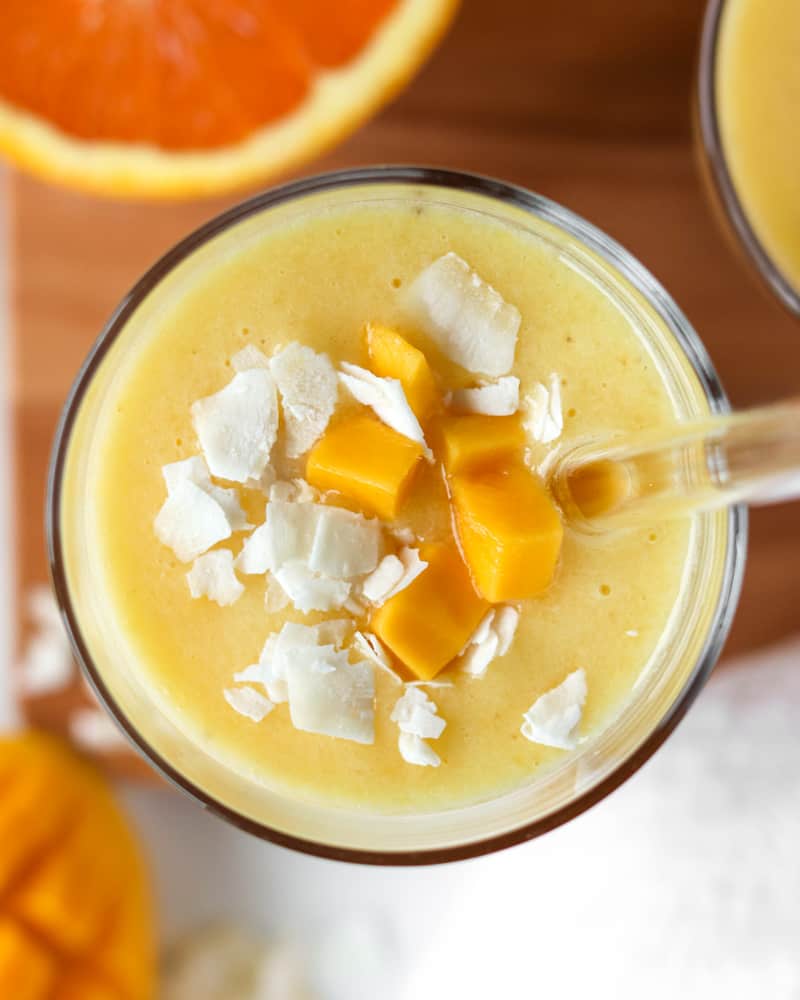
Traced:
<path fill-rule="evenodd" d="M 516 414 L 446 416 L 439 421 L 438 443 L 445 468 L 455 476 L 505 465 L 520 456 L 525 447 L 525 431 Z"/>

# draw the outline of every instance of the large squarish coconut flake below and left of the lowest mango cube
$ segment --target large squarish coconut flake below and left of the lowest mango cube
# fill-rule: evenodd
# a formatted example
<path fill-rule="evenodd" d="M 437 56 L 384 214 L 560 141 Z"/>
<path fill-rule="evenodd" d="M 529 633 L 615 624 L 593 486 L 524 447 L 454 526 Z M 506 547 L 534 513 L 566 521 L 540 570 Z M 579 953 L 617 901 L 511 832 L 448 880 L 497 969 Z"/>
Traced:
<path fill-rule="evenodd" d="M 300 647 L 288 664 L 289 713 L 303 732 L 375 742 L 372 668 L 348 662 L 347 650 Z"/>

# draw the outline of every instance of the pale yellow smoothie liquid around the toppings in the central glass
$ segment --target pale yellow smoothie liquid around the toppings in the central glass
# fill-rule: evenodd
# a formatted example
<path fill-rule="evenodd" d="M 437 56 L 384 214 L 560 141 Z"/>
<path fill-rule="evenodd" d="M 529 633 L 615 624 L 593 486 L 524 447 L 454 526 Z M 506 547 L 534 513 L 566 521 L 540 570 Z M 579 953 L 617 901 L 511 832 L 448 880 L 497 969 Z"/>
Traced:
<path fill-rule="evenodd" d="M 200 280 L 173 289 L 120 357 L 94 428 L 80 558 L 92 567 L 93 600 L 135 663 L 137 682 L 230 769 L 289 795 L 386 813 L 492 798 L 564 759 L 564 750 L 520 732 L 538 696 L 582 668 L 588 695 L 577 735 L 591 739 L 628 702 L 669 631 L 691 556 L 688 521 L 604 539 L 567 530 L 552 585 L 519 604 L 509 652 L 482 677 L 448 667 L 436 679 L 449 686 L 428 689 L 447 722 L 435 742 L 441 766 L 411 766 L 398 753 L 391 719 L 397 684 L 378 670 L 372 745 L 298 731 L 285 705 L 258 723 L 232 711 L 223 691 L 234 672 L 257 661 L 269 633 L 287 620 L 342 613 L 268 612 L 264 576 L 242 576 L 244 593 L 228 607 L 193 599 L 189 567 L 153 530 L 165 498 L 162 466 L 199 450 L 192 404 L 230 381 L 230 359 L 245 345 L 270 355 L 299 342 L 335 365 L 366 365 L 363 327 L 379 322 L 426 352 L 443 392 L 469 382 L 420 332 L 409 306 L 416 276 L 450 251 L 519 309 L 513 373 L 523 396 L 551 373 L 560 380 L 563 434 L 550 444 L 529 442 L 533 466 L 564 441 L 674 423 L 668 380 L 631 315 L 562 258 L 556 231 L 537 225 L 545 238 L 478 212 L 408 201 L 288 217 L 212 260 Z M 355 406 L 341 390 L 339 405 L 345 412 Z M 288 460 L 279 447 L 272 463 L 278 478 L 304 474 L 304 458 Z M 260 524 L 264 493 L 240 493 Z M 455 544 L 437 464 L 421 463 L 398 526 L 420 544 Z M 221 548 L 238 553 L 246 537 L 234 533 Z"/>

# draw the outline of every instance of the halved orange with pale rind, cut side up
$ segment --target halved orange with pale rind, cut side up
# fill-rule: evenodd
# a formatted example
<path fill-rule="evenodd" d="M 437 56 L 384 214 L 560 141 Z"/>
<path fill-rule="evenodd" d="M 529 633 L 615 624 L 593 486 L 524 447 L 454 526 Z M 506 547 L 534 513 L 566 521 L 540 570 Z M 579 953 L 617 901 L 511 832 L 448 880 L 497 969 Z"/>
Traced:
<path fill-rule="evenodd" d="M 458 0 L 0 0 L 0 152 L 183 197 L 284 172 L 405 84 Z"/>

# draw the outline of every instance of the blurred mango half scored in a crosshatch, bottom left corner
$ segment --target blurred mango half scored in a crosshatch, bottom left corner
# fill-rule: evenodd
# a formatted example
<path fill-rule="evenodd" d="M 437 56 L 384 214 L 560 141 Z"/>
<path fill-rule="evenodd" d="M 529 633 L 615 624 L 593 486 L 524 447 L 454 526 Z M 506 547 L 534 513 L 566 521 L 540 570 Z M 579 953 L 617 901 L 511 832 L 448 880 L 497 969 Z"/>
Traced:
<path fill-rule="evenodd" d="M 0 774 L 0 997 L 153 1000 L 148 877 L 103 779 L 35 733 L 0 739 Z"/>

